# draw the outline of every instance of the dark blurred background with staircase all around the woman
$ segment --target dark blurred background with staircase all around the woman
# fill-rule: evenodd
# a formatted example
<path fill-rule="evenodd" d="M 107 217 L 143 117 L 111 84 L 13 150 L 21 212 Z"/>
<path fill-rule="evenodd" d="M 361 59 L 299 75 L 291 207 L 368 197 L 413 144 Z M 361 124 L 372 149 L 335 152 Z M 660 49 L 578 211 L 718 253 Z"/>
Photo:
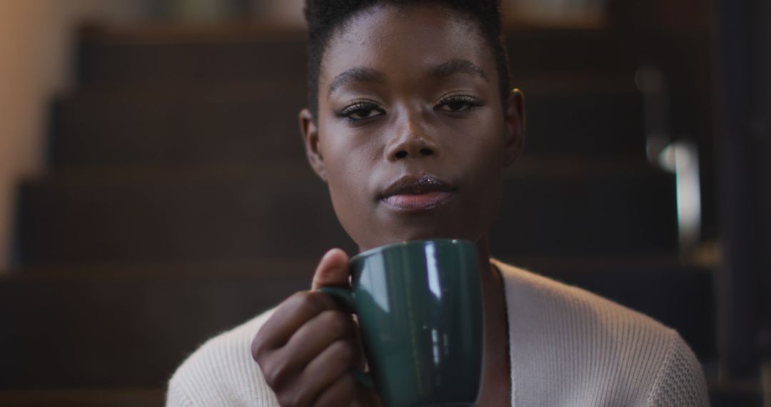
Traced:
<path fill-rule="evenodd" d="M 504 6 L 528 135 L 493 254 L 678 329 L 713 405 L 771 405 L 769 2 Z M 162 405 L 355 251 L 298 133 L 300 10 L 0 2 L 0 406 Z"/>

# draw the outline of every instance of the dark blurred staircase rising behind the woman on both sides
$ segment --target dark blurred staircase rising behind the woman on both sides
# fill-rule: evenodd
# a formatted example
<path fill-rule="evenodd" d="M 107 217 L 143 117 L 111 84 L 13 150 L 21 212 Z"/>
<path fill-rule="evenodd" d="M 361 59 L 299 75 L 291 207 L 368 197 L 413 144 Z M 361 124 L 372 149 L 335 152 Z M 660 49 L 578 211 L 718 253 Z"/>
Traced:
<path fill-rule="evenodd" d="M 508 38 L 528 136 L 493 254 L 658 318 L 714 360 L 712 271 L 678 260 L 635 55 L 603 31 Z M 329 247 L 355 250 L 305 163 L 305 39 L 92 30 L 78 61 L 49 173 L 19 193 L 0 405 L 161 405 L 197 345 L 307 288 Z"/>

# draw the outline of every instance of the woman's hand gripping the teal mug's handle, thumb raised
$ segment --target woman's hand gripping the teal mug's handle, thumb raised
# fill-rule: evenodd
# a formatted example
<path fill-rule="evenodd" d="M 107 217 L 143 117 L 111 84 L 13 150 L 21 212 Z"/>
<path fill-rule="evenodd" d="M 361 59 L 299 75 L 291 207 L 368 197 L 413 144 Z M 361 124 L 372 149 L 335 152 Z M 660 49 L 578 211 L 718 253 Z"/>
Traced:
<path fill-rule="evenodd" d="M 348 287 L 348 276 L 348 255 L 332 249 L 311 288 Z M 282 406 L 379 405 L 350 373 L 364 366 L 357 329 L 332 297 L 301 291 L 278 305 L 254 337 L 251 355 Z"/>

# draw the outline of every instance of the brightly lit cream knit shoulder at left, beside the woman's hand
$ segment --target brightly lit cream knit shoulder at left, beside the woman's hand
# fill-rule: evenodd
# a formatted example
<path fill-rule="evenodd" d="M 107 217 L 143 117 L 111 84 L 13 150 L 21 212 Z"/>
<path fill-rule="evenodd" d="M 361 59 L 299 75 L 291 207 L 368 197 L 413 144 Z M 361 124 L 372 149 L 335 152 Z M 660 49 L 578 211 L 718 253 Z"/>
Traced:
<path fill-rule="evenodd" d="M 201 345 L 171 377 L 167 406 L 278 406 L 251 358 L 251 341 L 272 313 L 266 311 Z"/>

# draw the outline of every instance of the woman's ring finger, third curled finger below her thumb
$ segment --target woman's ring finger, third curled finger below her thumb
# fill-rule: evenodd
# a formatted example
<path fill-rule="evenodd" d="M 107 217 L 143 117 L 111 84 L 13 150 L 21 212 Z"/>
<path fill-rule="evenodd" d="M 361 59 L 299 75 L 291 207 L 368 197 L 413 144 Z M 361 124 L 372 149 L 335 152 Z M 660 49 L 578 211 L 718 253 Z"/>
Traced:
<path fill-rule="evenodd" d="M 354 359 L 350 340 L 335 341 L 314 358 L 295 383 L 291 385 L 295 405 L 311 405 L 326 389 L 335 385 L 340 376 L 349 375 Z M 353 397 L 352 392 L 351 397 Z M 342 405 L 342 404 L 338 404 Z"/>

